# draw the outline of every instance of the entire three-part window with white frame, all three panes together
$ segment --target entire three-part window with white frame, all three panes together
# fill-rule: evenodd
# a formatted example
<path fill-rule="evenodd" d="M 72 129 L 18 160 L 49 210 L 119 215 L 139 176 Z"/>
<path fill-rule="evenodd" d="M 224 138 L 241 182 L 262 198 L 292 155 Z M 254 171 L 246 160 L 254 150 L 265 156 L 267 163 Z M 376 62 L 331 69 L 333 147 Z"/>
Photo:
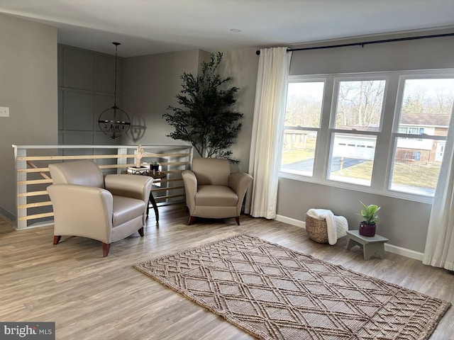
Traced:
<path fill-rule="evenodd" d="M 454 69 L 313 77 L 290 77 L 280 176 L 430 201 Z"/>

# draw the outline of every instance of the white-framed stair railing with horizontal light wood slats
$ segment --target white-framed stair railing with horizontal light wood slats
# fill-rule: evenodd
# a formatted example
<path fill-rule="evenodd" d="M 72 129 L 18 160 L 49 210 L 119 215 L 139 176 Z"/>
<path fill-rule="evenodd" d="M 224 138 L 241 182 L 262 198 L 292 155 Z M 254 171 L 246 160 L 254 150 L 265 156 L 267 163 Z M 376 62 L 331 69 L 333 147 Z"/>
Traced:
<path fill-rule="evenodd" d="M 181 173 L 192 162 L 189 145 L 142 145 L 142 164 L 157 161 L 166 174 L 152 192 L 157 203 L 184 200 Z M 46 188 L 52 184 L 49 164 L 76 159 L 91 159 L 104 174 L 121 174 L 135 166 L 133 145 L 13 145 L 16 159 L 16 229 L 53 224 L 52 203 Z"/>

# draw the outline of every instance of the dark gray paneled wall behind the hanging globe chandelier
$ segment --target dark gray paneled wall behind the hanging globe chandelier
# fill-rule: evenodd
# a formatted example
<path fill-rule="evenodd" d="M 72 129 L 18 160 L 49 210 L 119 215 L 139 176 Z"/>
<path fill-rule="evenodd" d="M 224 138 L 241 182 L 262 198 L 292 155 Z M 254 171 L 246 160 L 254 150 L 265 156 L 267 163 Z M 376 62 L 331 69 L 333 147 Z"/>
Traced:
<path fill-rule="evenodd" d="M 118 57 L 116 103 L 120 108 L 121 64 Z M 58 45 L 59 144 L 121 145 L 121 138 L 112 140 L 98 124 L 102 111 L 114 106 L 114 90 L 115 55 Z"/>

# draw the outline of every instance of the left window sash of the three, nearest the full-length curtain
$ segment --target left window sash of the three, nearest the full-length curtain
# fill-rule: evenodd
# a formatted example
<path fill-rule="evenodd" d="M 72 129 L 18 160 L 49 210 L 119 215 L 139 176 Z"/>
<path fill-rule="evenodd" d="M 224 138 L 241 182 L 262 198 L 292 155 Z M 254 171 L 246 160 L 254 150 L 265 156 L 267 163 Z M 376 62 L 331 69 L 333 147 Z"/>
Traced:
<path fill-rule="evenodd" d="M 281 162 L 284 171 L 313 174 L 323 89 L 323 81 L 289 83 Z"/>

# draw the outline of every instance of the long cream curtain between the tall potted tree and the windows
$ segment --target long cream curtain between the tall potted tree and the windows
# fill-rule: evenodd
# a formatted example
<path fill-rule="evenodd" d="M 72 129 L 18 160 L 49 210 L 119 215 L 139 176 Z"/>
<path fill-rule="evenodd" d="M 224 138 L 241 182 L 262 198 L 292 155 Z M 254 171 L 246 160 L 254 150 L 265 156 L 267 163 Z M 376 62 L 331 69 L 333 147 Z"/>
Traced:
<path fill-rule="evenodd" d="M 253 176 L 253 185 L 245 205 L 245 212 L 253 217 L 276 217 L 282 128 L 291 57 L 292 52 L 287 52 L 287 47 L 260 50 L 249 158 L 249 174 Z"/>

